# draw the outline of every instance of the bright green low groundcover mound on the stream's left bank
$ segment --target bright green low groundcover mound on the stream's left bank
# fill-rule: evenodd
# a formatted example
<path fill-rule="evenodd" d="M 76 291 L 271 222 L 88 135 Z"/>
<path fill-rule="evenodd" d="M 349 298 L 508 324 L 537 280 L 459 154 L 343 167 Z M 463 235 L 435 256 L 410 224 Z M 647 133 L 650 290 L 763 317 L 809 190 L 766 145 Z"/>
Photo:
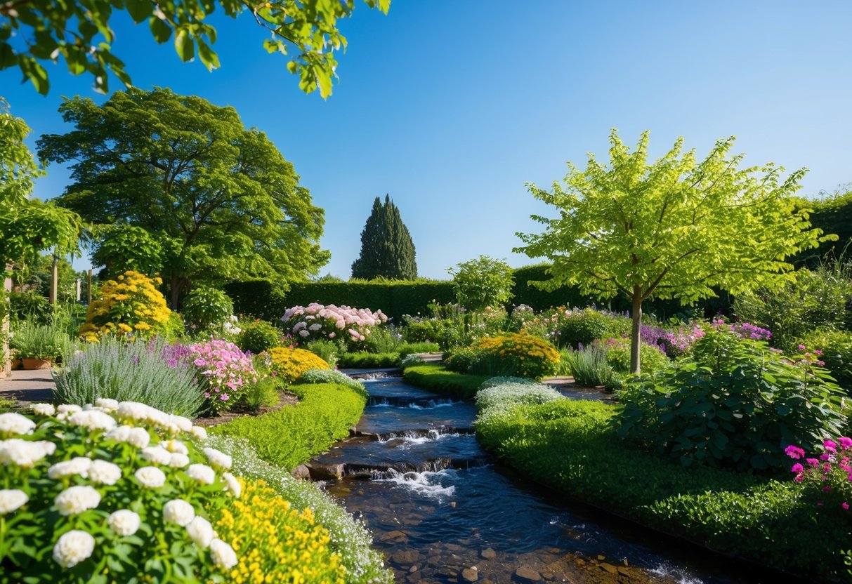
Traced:
<path fill-rule="evenodd" d="M 296 384 L 290 391 L 300 399 L 295 406 L 238 418 L 212 432 L 246 438 L 264 460 L 291 469 L 348 436 L 366 404 L 366 392 L 349 386 Z"/>

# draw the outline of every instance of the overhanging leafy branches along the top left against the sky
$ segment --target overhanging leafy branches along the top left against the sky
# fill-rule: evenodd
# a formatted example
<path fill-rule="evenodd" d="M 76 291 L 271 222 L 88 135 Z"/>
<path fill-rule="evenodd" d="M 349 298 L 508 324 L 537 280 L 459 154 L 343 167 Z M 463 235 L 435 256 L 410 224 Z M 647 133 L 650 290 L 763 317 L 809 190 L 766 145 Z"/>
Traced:
<path fill-rule="evenodd" d="M 390 0 L 365 2 L 383 13 L 390 8 Z M 130 87 L 124 62 L 112 54 L 115 32 L 110 19 L 119 11 L 130 14 L 136 24 L 147 21 L 157 43 L 174 37 L 182 61 L 193 60 L 198 54 L 212 71 L 219 67 L 219 57 L 210 47 L 216 43 L 216 28 L 205 19 L 217 6 L 231 18 L 250 12 L 256 24 L 271 35 L 263 42 L 264 49 L 288 56 L 287 69 L 299 76 L 299 88 L 305 93 L 320 89 L 323 98 L 331 95 L 335 52 L 346 47 L 337 20 L 352 14 L 354 0 L 71 0 L 61 4 L 9 0 L 0 3 L 0 71 L 17 66 L 38 93 L 47 94 L 50 84 L 42 63 L 62 57 L 72 75 L 89 73 L 95 79 L 95 89 L 103 93 L 108 90 L 109 72 Z M 294 56 L 288 54 L 290 49 L 295 49 Z"/>

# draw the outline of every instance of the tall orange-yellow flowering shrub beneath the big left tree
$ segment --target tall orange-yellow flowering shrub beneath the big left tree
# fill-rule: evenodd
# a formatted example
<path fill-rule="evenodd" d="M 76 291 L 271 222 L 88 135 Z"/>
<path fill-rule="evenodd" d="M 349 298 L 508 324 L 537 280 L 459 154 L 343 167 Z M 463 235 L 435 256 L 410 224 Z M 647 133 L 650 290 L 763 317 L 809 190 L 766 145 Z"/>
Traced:
<path fill-rule="evenodd" d="M 132 270 L 107 280 L 101 294 L 89 305 L 80 336 L 95 342 L 107 334 L 149 337 L 164 332 L 171 311 L 156 288 L 161 283 L 159 278 L 148 278 Z"/>

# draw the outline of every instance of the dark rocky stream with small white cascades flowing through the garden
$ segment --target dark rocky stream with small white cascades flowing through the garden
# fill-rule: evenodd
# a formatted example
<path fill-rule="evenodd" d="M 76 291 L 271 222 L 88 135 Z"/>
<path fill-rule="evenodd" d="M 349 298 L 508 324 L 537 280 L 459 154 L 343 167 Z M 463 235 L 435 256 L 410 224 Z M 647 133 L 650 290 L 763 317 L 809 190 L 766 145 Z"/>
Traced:
<path fill-rule="evenodd" d="M 325 488 L 373 530 L 399 582 L 778 581 L 568 505 L 495 465 L 473 433 L 473 404 L 398 379 L 366 386 L 359 436 L 314 462 L 345 465 Z"/>

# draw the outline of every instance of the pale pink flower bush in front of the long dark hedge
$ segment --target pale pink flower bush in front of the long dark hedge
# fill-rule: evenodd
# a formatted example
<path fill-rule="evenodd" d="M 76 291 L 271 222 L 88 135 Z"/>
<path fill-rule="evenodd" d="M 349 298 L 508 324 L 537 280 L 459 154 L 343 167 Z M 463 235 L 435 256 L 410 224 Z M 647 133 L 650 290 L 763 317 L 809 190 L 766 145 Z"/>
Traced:
<path fill-rule="evenodd" d="M 308 306 L 293 306 L 281 317 L 285 331 L 297 341 L 339 339 L 349 343 L 363 342 L 371 329 L 388 322 L 382 311 L 349 306 L 323 306 L 316 302 Z"/>

